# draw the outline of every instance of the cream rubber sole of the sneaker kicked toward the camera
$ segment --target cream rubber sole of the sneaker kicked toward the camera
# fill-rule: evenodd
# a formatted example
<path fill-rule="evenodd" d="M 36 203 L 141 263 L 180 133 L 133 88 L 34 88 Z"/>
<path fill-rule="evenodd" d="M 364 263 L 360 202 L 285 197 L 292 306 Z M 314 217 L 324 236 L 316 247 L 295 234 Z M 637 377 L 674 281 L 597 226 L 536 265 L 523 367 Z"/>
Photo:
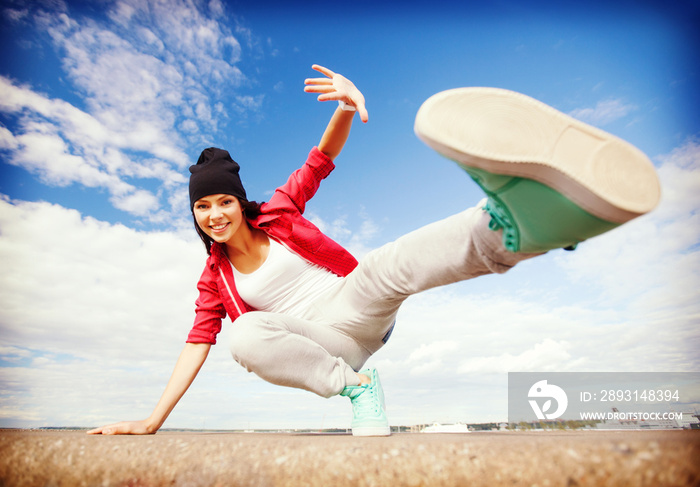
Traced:
<path fill-rule="evenodd" d="M 533 179 L 609 222 L 659 202 L 654 166 L 639 149 L 520 93 L 443 91 L 418 110 L 415 132 L 465 169 Z"/>

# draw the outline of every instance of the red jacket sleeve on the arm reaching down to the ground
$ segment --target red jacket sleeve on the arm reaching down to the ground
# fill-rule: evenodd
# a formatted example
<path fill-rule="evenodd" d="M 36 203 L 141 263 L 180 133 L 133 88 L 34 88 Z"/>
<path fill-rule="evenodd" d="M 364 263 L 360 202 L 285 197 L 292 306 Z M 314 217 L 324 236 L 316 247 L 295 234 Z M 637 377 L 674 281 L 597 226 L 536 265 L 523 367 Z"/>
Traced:
<path fill-rule="evenodd" d="M 195 301 L 196 316 L 194 326 L 187 336 L 187 343 L 216 343 L 221 331 L 221 320 L 226 317 L 226 309 L 219 295 L 213 271 L 207 266 L 197 283 L 199 297 Z"/>

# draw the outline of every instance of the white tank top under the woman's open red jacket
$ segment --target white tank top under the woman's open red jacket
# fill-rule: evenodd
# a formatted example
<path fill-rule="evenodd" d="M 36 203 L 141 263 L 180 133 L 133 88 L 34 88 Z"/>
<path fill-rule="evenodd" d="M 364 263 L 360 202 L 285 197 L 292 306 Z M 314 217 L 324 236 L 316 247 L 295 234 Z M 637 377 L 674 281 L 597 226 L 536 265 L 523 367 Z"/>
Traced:
<path fill-rule="evenodd" d="M 265 262 L 251 274 L 231 264 L 241 299 L 259 311 L 304 317 L 309 305 L 342 281 L 331 271 L 307 262 L 270 239 Z"/>

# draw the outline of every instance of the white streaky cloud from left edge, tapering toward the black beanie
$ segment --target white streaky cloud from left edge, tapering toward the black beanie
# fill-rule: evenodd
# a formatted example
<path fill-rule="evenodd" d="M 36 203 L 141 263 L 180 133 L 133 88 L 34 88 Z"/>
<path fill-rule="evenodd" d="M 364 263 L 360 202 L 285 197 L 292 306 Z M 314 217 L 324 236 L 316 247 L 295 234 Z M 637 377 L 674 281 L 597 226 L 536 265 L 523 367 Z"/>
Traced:
<path fill-rule="evenodd" d="M 136 207 L 125 201 L 137 195 L 143 199 L 147 191 L 124 179 L 133 176 L 160 179 L 166 187 L 184 182 L 181 174 L 159 159 L 145 159 L 147 165 L 132 161 L 120 150 L 132 147 L 120 147 L 117 134 L 110 143 L 109 131 L 89 114 L 62 100 L 51 100 L 15 86 L 4 77 L 0 77 L 0 108 L 21 114 L 18 135 L 9 130 L 1 132 L 3 146 L 14 149 L 8 162 L 36 174 L 45 184 L 106 188 L 118 203 L 116 207 L 148 216 L 157 212 L 159 202 L 152 197 L 147 210 L 140 207 L 132 211 Z"/>

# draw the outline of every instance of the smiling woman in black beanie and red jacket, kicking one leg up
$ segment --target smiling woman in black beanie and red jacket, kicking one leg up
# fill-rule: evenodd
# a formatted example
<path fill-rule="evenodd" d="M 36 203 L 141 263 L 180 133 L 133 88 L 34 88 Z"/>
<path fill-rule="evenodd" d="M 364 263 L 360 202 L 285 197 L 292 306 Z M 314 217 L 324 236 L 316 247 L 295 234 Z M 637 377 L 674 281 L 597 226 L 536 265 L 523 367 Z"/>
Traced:
<path fill-rule="evenodd" d="M 333 170 L 355 111 L 368 120 L 353 83 L 327 68 L 313 69 L 325 77 L 306 80 L 305 91 L 340 106 L 318 147 L 269 202 L 248 202 L 239 166 L 226 151 L 206 149 L 190 168 L 195 226 L 209 253 L 194 327 L 151 416 L 89 433 L 155 433 L 199 372 L 228 314 L 232 355 L 248 371 L 323 397 L 347 396 L 354 435 L 388 435 L 378 374 L 361 368 L 387 342 L 408 296 L 573 247 L 658 200 L 651 163 L 629 144 L 523 95 L 452 90 L 423 105 L 416 132 L 459 162 L 488 201 L 384 245 L 358 264 L 302 216 Z M 533 141 L 533 123 L 549 138 Z M 608 153 L 616 157 L 614 168 Z"/>

